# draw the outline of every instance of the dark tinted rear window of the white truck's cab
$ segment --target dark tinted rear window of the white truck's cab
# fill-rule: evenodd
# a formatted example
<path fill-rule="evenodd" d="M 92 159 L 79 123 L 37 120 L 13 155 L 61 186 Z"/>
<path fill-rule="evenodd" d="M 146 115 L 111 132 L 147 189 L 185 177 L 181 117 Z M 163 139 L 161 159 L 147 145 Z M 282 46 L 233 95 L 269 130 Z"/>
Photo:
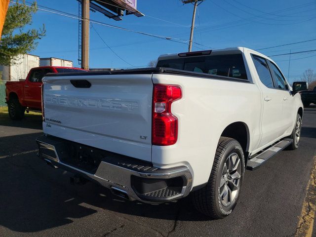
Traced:
<path fill-rule="evenodd" d="M 246 69 L 241 54 L 159 60 L 157 67 L 247 79 Z"/>

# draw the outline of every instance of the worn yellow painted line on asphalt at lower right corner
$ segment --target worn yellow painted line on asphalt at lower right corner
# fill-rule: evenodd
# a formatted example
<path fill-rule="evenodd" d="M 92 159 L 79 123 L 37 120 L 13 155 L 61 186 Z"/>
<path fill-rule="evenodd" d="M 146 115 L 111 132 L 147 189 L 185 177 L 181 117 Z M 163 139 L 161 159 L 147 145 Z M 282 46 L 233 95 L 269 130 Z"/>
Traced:
<path fill-rule="evenodd" d="M 314 157 L 310 181 L 306 188 L 302 212 L 295 237 L 312 237 L 316 212 L 316 157 Z"/>

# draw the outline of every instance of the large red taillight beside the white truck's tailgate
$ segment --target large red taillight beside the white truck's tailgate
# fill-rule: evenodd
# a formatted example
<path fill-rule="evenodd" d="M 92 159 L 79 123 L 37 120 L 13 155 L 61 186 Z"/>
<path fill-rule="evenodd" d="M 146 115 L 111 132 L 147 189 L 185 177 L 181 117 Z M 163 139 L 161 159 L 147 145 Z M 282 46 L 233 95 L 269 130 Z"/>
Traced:
<path fill-rule="evenodd" d="M 178 138 L 178 119 L 171 113 L 172 102 L 182 96 L 181 87 L 177 85 L 154 85 L 152 143 L 168 146 L 176 143 Z"/>

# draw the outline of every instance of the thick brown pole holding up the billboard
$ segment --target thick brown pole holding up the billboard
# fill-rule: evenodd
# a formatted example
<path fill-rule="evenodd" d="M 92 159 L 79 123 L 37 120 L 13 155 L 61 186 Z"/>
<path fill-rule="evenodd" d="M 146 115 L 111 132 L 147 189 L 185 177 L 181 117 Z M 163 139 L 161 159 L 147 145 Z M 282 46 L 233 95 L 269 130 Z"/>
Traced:
<path fill-rule="evenodd" d="M 82 0 L 81 68 L 89 70 L 90 0 Z"/>

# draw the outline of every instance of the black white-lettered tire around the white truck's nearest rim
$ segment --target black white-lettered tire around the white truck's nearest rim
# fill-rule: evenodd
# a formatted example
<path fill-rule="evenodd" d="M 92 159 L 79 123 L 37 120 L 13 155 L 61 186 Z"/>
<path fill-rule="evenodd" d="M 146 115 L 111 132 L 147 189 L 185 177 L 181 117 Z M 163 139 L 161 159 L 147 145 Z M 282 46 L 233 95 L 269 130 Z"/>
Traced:
<path fill-rule="evenodd" d="M 225 181 L 223 172 L 225 170 L 228 158 L 234 154 L 237 154 L 240 160 L 240 178 L 238 181 L 239 188 L 237 189 L 237 194 L 234 199 L 230 202 L 230 204 L 226 203 L 228 205 L 225 206 L 221 196 L 221 192 L 223 192 L 221 191 L 221 188 L 224 186 L 228 187 L 227 181 L 229 180 L 226 177 Z M 199 212 L 211 217 L 212 219 L 221 219 L 231 214 L 240 196 L 244 171 L 245 159 L 239 142 L 233 138 L 221 137 L 217 145 L 213 167 L 207 185 L 202 189 L 195 191 L 192 195 L 193 203 L 196 209 Z M 226 184 L 221 186 L 222 180 L 225 181 Z M 236 178 L 232 179 L 231 177 L 231 181 L 232 180 L 235 182 Z"/>

